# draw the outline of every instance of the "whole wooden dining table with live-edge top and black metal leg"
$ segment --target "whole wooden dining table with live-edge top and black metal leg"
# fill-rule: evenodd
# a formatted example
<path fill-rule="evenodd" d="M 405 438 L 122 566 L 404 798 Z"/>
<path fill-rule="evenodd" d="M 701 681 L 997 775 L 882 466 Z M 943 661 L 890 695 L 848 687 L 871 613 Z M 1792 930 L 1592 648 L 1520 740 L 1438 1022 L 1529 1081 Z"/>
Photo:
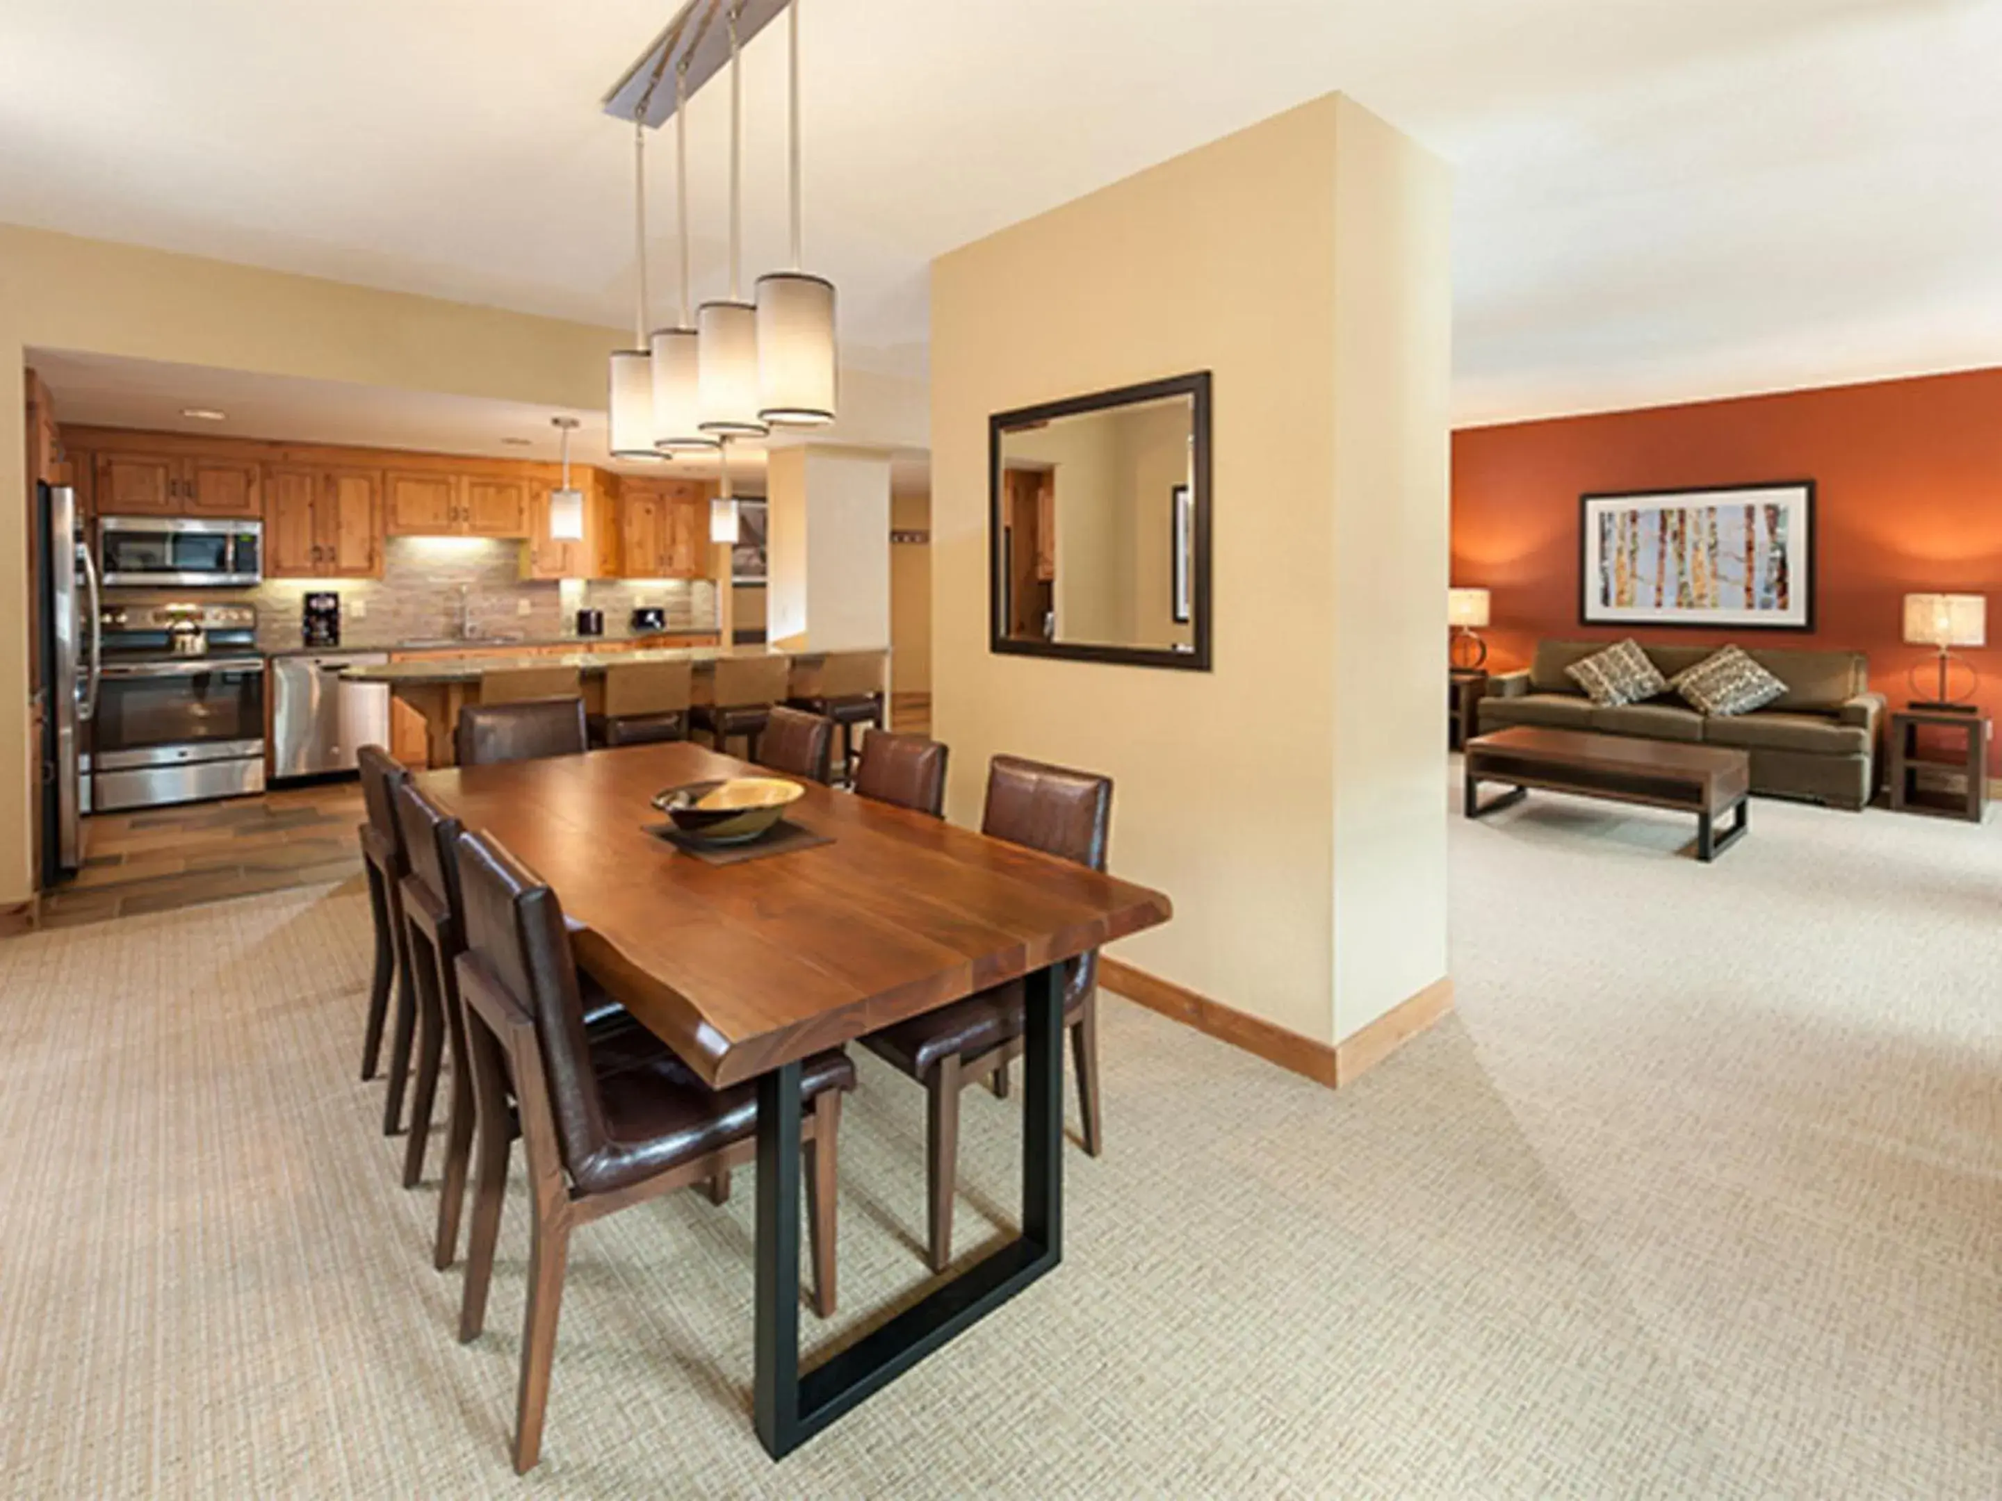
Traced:
<path fill-rule="evenodd" d="M 555 889 L 579 963 L 691 1069 L 715 1087 L 757 1079 L 753 1415 L 779 1459 L 1061 1263 L 1061 965 L 1171 909 L 813 783 L 787 819 L 823 845 L 715 865 L 657 833 L 657 793 L 745 775 L 775 773 L 679 742 L 454 767 L 418 787 Z M 801 1371 L 801 1059 L 1013 979 L 1027 993 L 1021 1233 Z"/>

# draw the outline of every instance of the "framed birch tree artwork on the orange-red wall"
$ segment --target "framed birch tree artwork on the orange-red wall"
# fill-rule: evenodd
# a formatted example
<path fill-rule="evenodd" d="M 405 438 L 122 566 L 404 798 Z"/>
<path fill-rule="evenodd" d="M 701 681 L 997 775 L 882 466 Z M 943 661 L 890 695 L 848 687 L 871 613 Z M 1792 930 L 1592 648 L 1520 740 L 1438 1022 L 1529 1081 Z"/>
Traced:
<path fill-rule="evenodd" d="M 1584 624 L 1814 630 L 1814 480 L 1580 500 Z"/>

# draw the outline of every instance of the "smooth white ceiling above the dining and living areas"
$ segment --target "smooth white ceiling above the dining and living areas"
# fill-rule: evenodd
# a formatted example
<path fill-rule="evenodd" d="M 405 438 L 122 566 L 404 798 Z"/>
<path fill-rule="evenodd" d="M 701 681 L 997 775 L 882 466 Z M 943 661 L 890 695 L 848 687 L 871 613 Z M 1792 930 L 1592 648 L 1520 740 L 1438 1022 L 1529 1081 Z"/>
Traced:
<path fill-rule="evenodd" d="M 0 216 L 623 324 L 631 150 L 597 100 L 671 10 L 8 0 Z M 861 368 L 923 370 L 931 256 L 1331 88 L 1459 168 L 1461 420 L 2002 362 L 2002 0 L 803 16 L 807 260 Z M 745 68 L 755 274 L 785 246 L 777 28 Z M 691 108 L 697 298 L 725 114 Z"/>

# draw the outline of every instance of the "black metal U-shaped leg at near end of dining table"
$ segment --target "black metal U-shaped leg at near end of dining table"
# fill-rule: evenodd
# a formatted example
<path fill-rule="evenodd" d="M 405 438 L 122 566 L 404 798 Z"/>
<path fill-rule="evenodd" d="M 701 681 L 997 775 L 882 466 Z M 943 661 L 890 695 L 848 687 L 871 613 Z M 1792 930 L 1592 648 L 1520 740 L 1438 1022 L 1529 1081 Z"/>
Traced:
<path fill-rule="evenodd" d="M 1063 969 L 1025 981 L 1021 1235 L 805 1375 L 799 1065 L 757 1087 L 757 1435 L 783 1459 L 1063 1261 Z"/>

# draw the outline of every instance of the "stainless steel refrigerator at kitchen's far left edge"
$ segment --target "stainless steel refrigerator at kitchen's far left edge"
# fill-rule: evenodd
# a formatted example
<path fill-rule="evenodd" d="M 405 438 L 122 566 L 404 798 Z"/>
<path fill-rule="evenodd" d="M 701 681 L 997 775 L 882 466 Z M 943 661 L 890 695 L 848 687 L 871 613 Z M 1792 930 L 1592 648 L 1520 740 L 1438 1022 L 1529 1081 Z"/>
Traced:
<path fill-rule="evenodd" d="M 84 863 L 90 714 L 98 702 L 98 574 L 76 490 L 36 486 L 36 626 L 42 714 L 42 887 Z"/>

